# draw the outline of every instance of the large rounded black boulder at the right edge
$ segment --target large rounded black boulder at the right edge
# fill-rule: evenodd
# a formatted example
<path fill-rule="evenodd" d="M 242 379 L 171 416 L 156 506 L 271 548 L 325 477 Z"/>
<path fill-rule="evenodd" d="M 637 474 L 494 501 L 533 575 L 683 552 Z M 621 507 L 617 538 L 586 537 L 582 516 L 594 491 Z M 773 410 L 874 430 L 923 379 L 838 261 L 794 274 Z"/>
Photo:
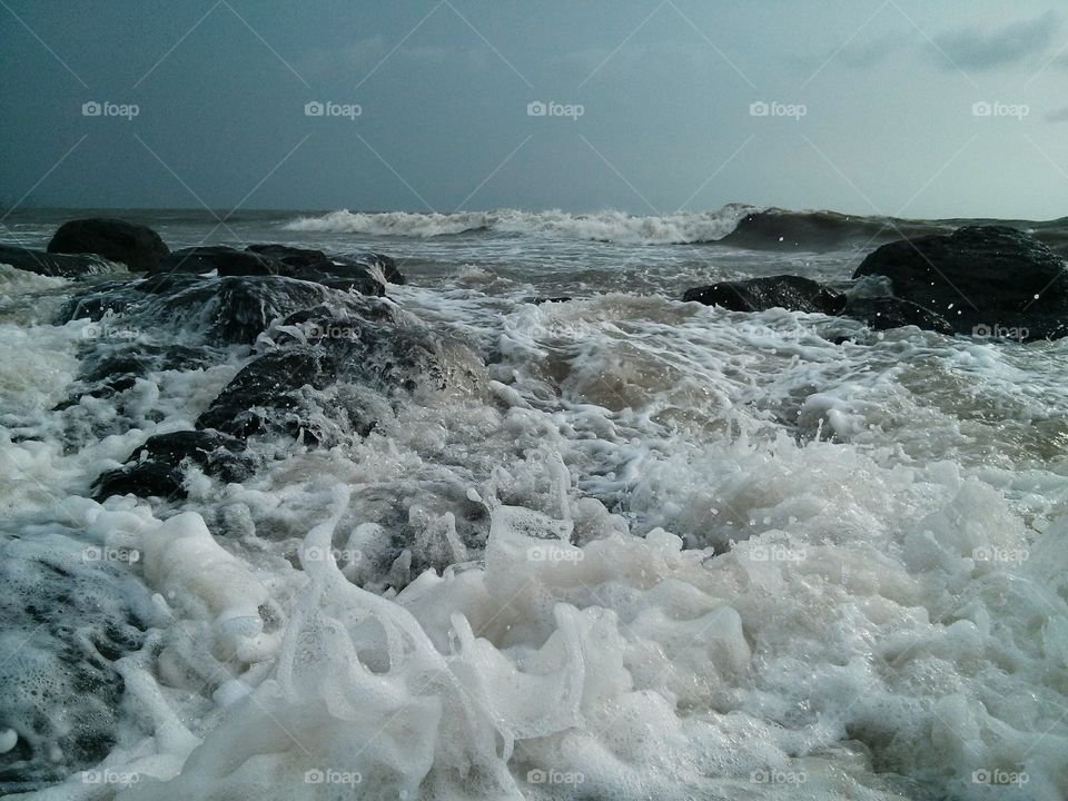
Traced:
<path fill-rule="evenodd" d="M 1011 330 L 1029 340 L 1068 334 L 1068 270 L 1034 237 L 1003 226 L 890 243 L 854 278 L 881 275 L 894 296 L 941 314 L 957 334 Z"/>

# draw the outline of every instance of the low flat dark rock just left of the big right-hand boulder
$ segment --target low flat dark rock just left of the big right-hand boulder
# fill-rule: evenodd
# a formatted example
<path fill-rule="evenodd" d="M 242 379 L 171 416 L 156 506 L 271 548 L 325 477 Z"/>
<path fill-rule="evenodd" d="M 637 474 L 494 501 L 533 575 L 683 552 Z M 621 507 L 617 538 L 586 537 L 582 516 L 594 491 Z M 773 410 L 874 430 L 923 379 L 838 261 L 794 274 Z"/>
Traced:
<path fill-rule="evenodd" d="M 732 312 L 764 312 L 781 307 L 790 312 L 838 314 L 846 296 L 822 284 L 799 276 L 771 276 L 738 281 L 720 281 L 688 289 L 685 301 L 722 306 Z"/>

